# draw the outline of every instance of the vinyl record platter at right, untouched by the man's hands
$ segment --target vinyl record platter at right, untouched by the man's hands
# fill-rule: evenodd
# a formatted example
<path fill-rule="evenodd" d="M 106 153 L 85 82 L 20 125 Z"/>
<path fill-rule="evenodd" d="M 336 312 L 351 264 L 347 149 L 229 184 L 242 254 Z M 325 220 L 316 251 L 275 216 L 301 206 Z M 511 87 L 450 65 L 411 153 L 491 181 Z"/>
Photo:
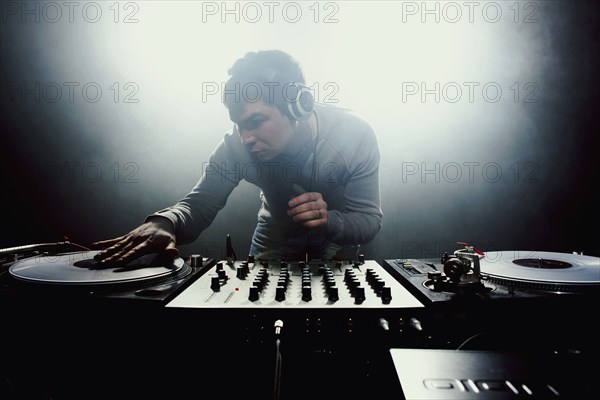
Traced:
<path fill-rule="evenodd" d="M 489 251 L 480 260 L 481 272 L 492 282 L 556 291 L 600 285 L 600 258 L 543 251 Z"/>

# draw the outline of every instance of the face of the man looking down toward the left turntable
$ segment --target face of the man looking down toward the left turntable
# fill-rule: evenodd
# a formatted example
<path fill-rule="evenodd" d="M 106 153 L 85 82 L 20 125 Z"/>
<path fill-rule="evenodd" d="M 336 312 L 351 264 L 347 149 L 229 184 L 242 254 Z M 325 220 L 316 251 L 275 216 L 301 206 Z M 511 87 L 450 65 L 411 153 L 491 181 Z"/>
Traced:
<path fill-rule="evenodd" d="M 261 161 L 285 152 L 294 134 L 294 124 L 277 107 L 262 101 L 247 103 L 241 114 L 230 118 L 242 143 Z"/>

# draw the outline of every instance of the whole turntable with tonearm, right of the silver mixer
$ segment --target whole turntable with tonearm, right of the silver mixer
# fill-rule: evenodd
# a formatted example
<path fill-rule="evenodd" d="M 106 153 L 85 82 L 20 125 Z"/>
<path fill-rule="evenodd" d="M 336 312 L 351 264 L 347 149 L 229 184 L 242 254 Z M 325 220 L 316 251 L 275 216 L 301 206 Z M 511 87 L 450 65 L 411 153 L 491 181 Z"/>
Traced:
<path fill-rule="evenodd" d="M 440 259 L 385 265 L 425 304 L 458 299 L 598 295 L 600 258 L 547 251 L 490 251 L 472 246 Z"/>

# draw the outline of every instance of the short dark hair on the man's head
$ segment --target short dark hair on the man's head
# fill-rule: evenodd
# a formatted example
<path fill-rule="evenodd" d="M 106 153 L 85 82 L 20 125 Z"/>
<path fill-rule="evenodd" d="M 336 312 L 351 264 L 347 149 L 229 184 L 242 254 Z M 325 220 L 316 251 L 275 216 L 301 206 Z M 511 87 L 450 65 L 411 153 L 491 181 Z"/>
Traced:
<path fill-rule="evenodd" d="M 288 115 L 286 101 L 289 102 L 290 94 L 285 94 L 286 100 L 286 85 L 290 82 L 305 84 L 298 61 L 281 50 L 248 52 L 236 60 L 227 73 L 230 78 L 223 89 L 223 103 L 235 113 L 242 112 L 249 102 L 262 100 Z"/>

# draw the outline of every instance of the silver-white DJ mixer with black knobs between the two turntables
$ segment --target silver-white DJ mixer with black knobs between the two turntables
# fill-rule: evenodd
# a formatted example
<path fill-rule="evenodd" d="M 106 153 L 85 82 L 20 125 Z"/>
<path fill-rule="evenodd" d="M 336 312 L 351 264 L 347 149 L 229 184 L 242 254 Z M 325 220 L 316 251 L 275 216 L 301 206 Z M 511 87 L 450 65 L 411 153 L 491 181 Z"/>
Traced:
<path fill-rule="evenodd" d="M 167 307 L 418 308 L 423 305 L 378 263 L 222 261 Z"/>

